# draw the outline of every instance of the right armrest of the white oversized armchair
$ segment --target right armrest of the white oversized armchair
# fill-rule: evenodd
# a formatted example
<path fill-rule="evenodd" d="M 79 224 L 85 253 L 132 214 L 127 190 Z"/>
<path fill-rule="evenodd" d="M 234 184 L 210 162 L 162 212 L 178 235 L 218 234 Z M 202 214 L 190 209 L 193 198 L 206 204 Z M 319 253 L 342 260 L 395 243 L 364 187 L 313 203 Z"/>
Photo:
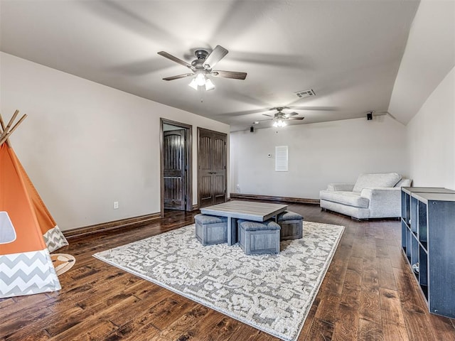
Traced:
<path fill-rule="evenodd" d="M 363 188 L 360 196 L 370 200 L 370 217 L 401 215 L 401 188 Z"/>

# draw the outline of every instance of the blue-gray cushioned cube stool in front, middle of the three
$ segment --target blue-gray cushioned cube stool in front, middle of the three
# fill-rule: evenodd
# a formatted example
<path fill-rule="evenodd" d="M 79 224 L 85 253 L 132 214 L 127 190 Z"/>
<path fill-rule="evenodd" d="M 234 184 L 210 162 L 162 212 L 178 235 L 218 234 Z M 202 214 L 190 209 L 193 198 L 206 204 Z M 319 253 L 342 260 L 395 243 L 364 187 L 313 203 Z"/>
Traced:
<path fill-rule="evenodd" d="M 239 244 L 245 254 L 278 254 L 279 224 L 273 220 L 265 222 L 237 221 Z"/>

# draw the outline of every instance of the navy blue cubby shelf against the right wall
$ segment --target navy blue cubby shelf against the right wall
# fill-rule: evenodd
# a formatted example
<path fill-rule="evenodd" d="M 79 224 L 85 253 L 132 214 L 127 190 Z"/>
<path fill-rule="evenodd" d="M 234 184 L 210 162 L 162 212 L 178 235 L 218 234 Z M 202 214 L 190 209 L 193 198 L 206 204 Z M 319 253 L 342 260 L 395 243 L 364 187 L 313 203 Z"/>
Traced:
<path fill-rule="evenodd" d="M 455 318 L 455 190 L 403 187 L 402 250 L 430 313 Z"/>

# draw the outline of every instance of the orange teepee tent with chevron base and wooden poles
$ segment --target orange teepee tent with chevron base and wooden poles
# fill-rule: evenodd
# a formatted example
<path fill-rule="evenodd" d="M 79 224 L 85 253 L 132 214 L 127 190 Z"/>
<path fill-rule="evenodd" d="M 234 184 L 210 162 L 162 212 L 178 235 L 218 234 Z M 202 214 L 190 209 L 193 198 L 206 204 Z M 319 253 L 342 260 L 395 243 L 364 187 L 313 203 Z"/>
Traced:
<path fill-rule="evenodd" d="M 49 252 L 68 245 L 9 144 L 17 114 L 0 116 L 0 298 L 60 290 Z"/>

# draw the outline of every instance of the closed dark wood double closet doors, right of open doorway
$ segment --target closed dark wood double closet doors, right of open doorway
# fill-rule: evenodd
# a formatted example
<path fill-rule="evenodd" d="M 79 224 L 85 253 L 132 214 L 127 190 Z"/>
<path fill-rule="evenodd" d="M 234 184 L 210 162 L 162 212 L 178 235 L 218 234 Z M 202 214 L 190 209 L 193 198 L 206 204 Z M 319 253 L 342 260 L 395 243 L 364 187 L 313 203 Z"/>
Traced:
<path fill-rule="evenodd" d="M 227 135 L 198 129 L 198 205 L 226 201 Z"/>

